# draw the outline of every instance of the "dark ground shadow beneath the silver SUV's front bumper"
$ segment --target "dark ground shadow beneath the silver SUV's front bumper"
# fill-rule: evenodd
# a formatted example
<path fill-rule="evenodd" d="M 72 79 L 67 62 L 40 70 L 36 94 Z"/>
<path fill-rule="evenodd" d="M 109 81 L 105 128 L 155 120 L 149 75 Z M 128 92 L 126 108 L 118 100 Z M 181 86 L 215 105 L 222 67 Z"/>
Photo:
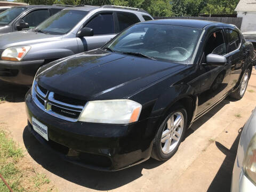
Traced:
<path fill-rule="evenodd" d="M 28 86 L 14 85 L 0 81 L 0 101 L 23 102 Z"/>

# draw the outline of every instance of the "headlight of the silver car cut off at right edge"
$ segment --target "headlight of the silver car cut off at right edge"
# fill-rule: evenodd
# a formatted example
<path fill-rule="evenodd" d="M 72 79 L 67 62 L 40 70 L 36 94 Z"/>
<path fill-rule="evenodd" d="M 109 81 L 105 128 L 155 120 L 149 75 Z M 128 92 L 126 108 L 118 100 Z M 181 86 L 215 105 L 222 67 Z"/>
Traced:
<path fill-rule="evenodd" d="M 256 183 L 256 134 L 254 134 L 247 148 L 243 168 L 247 177 Z"/>

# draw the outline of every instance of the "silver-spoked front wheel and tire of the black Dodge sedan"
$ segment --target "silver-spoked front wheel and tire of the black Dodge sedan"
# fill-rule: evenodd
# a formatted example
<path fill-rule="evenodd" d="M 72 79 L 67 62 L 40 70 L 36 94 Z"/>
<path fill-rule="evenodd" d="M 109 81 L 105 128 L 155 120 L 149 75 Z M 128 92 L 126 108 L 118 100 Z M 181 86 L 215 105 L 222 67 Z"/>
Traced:
<path fill-rule="evenodd" d="M 181 105 L 173 106 L 157 131 L 151 157 L 158 161 L 171 158 L 178 150 L 186 129 L 186 109 Z"/>

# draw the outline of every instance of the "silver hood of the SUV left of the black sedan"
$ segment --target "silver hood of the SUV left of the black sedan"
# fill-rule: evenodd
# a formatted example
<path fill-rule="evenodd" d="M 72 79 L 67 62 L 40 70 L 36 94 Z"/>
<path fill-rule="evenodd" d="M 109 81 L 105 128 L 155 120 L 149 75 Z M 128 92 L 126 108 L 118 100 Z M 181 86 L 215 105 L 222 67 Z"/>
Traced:
<path fill-rule="evenodd" d="M 40 42 L 50 42 L 56 39 L 61 39 L 60 35 L 47 35 L 36 33 L 30 30 L 16 31 L 0 35 L 0 50 L 16 45 L 31 45 Z"/>

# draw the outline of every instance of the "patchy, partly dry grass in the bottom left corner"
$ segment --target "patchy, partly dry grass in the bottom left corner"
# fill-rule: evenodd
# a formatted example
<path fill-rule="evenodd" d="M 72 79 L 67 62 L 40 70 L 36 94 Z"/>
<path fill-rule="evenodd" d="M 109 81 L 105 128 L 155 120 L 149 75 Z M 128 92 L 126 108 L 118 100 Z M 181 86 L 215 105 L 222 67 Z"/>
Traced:
<path fill-rule="evenodd" d="M 58 191 L 45 174 L 35 171 L 24 155 L 25 150 L 10 139 L 10 135 L 1 127 L 0 123 L 0 173 L 13 191 Z M 0 192 L 9 192 L 0 179 Z"/>

